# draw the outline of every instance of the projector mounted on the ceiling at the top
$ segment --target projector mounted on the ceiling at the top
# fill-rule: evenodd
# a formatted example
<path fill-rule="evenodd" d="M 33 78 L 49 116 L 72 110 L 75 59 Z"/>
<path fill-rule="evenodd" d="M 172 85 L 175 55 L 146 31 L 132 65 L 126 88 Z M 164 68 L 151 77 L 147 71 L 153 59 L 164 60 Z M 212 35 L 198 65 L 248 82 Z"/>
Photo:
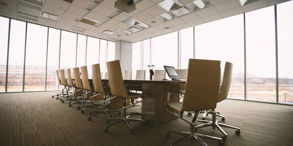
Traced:
<path fill-rule="evenodd" d="M 133 0 L 117 0 L 115 1 L 115 8 L 125 13 L 131 13 L 135 10 L 135 4 Z"/>

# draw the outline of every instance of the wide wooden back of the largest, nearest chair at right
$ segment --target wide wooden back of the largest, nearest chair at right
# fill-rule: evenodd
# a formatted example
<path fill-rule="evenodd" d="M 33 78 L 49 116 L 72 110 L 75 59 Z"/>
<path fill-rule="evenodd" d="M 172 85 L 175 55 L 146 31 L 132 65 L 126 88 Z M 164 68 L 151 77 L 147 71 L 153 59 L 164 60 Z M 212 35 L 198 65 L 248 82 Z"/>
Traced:
<path fill-rule="evenodd" d="M 185 94 L 180 111 L 215 109 L 221 61 L 189 59 Z"/>

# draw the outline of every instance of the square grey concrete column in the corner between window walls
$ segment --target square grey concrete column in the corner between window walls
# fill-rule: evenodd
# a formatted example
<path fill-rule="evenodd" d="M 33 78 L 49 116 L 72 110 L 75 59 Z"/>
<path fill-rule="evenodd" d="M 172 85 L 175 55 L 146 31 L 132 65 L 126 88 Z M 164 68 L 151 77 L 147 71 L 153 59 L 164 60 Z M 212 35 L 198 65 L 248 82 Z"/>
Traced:
<path fill-rule="evenodd" d="M 132 70 L 132 43 L 119 40 L 115 42 L 115 60 L 120 60 L 122 75 L 125 70 Z"/>

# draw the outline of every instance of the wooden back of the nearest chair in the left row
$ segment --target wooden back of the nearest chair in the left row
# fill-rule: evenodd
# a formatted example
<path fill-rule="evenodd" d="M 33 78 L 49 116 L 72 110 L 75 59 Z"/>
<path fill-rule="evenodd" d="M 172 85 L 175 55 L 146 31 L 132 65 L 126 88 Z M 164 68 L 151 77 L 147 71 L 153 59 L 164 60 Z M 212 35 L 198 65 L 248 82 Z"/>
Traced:
<path fill-rule="evenodd" d="M 122 71 L 119 60 L 106 62 L 108 77 L 111 88 L 111 94 L 121 98 L 127 98 L 127 91 L 122 77 Z"/>

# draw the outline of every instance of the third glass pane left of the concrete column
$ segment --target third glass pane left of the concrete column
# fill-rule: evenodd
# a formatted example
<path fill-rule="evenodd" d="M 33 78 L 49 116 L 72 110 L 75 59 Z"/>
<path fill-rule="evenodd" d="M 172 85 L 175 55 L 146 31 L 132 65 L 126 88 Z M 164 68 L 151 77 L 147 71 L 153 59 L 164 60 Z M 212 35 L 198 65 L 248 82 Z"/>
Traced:
<path fill-rule="evenodd" d="M 86 51 L 86 66 L 88 77 L 92 78 L 91 65 L 99 63 L 100 39 L 89 37 Z"/>

